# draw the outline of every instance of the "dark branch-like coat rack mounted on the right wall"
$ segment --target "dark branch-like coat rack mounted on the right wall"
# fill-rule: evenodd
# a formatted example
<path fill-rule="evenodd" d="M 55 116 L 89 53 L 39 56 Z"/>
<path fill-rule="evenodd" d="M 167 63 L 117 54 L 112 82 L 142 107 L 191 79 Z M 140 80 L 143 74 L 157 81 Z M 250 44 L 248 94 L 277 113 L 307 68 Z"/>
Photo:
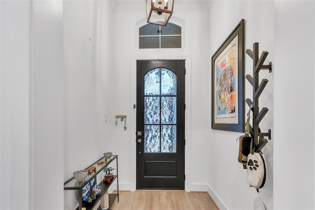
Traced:
<path fill-rule="evenodd" d="M 268 130 L 268 133 L 260 132 L 259 122 L 268 112 L 268 108 L 264 107 L 259 112 L 258 99 L 264 88 L 266 87 L 268 80 L 263 79 L 259 84 L 259 71 L 261 69 L 268 69 L 269 72 L 272 71 L 271 62 L 268 65 L 264 65 L 264 61 L 267 58 L 268 52 L 263 51 L 260 58 L 258 58 L 258 43 L 253 44 L 253 50 L 247 49 L 246 54 L 252 58 L 252 75 L 246 75 L 246 79 L 252 85 L 252 100 L 247 98 L 245 101 L 249 107 L 252 106 L 252 126 L 250 125 L 250 130 L 252 132 L 253 142 L 255 144 L 255 151 L 259 152 L 266 144 L 267 140 L 262 138 L 268 136 L 268 139 L 271 139 L 271 130 Z"/>

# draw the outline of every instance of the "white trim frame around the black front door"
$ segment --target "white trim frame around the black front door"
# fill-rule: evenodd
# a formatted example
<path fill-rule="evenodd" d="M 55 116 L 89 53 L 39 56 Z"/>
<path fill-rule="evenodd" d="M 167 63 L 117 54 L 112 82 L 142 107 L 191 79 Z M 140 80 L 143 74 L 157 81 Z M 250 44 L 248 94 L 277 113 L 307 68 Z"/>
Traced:
<path fill-rule="evenodd" d="M 136 109 L 133 108 L 137 100 L 136 73 L 137 60 L 185 60 L 185 191 L 190 192 L 190 163 L 191 163 L 191 126 L 190 126 L 190 86 L 191 86 L 191 55 L 132 55 L 130 57 L 130 190 L 136 190 Z"/>

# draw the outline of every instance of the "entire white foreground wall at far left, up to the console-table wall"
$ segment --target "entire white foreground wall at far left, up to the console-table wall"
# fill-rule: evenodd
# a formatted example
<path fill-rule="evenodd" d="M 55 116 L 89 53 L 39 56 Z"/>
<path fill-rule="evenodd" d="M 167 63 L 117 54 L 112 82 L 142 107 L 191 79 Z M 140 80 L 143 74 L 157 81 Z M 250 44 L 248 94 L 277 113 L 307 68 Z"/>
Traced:
<path fill-rule="evenodd" d="M 1 1 L 3 210 L 63 208 L 62 26 L 61 1 Z"/>

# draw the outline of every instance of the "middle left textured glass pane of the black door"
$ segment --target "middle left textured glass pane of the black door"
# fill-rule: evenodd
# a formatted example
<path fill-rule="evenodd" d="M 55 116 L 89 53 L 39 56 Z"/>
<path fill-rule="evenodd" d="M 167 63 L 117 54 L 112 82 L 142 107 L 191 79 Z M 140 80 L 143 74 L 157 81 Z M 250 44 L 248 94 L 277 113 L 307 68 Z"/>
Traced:
<path fill-rule="evenodd" d="M 158 124 L 159 123 L 159 97 L 148 96 L 144 97 L 144 123 Z"/>

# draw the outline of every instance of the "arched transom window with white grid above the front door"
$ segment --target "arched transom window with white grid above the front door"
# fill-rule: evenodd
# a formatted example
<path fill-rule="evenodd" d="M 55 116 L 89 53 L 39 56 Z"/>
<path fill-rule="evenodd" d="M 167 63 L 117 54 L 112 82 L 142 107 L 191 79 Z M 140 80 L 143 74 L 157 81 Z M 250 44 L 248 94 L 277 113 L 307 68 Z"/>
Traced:
<path fill-rule="evenodd" d="M 182 28 L 168 23 L 165 27 L 147 24 L 139 28 L 139 49 L 182 48 Z"/>

